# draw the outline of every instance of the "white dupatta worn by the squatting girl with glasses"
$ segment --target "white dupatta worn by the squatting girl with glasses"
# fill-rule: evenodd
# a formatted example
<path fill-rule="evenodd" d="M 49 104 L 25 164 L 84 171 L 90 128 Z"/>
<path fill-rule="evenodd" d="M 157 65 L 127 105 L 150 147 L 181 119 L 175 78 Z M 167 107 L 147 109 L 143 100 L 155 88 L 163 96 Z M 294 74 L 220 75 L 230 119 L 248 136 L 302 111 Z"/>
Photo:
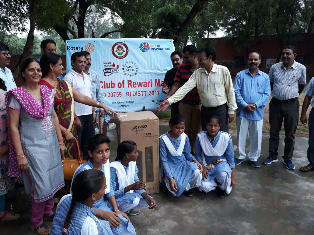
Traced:
<path fill-rule="evenodd" d="M 199 142 L 201 144 L 202 148 L 202 159 L 203 159 L 203 164 L 206 166 L 206 161 L 205 161 L 205 155 L 206 156 L 213 156 L 213 157 L 219 157 L 223 155 L 228 147 L 229 144 L 229 138 L 230 134 L 228 133 L 223 133 L 220 132 L 220 137 L 213 148 L 212 144 L 209 141 L 207 131 L 204 133 L 198 134 Z M 226 161 L 226 159 L 222 159 L 223 161 Z"/>

